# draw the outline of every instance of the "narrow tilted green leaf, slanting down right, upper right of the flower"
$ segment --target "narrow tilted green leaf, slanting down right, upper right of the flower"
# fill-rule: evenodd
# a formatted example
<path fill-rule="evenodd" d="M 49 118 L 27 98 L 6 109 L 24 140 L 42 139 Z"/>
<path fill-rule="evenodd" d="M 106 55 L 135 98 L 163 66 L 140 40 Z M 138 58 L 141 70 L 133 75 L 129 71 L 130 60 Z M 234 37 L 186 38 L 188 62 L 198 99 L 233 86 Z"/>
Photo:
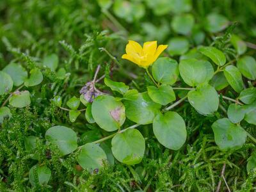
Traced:
<path fill-rule="evenodd" d="M 215 47 L 200 47 L 198 51 L 210 58 L 216 65 L 222 66 L 226 63 L 225 54 Z"/>

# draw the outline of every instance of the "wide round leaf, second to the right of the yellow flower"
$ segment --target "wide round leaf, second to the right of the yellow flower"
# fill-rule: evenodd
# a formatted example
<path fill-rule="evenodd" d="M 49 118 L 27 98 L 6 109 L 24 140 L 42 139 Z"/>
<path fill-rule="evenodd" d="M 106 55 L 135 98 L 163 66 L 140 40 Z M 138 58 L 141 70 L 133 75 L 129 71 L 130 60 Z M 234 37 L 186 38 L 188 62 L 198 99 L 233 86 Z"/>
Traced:
<path fill-rule="evenodd" d="M 196 86 L 212 78 L 214 70 L 209 61 L 188 59 L 179 64 L 180 76 L 186 84 Z"/>

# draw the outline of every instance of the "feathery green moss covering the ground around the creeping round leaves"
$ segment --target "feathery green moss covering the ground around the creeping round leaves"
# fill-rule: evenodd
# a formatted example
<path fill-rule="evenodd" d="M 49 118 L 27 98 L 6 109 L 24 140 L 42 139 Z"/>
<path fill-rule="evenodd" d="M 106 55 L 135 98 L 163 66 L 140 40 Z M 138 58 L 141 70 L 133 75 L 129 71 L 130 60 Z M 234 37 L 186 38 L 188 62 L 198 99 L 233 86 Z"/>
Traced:
<path fill-rule="evenodd" d="M 238 20 L 234 29 L 248 42 L 255 42 L 255 1 L 193 1 L 193 13 L 202 20 L 206 13 L 220 12 L 230 20 Z M 170 15 L 168 16 L 170 17 Z M 166 17 L 154 17 L 148 10 L 143 22 L 168 23 Z M 141 29 L 141 20 L 124 23 L 129 35 L 147 40 L 147 33 Z M 254 25 L 254 26 L 253 26 Z M 109 31 L 104 31 L 109 29 Z M 112 31 L 114 30 L 114 31 Z M 211 44 L 211 34 L 205 44 Z M 171 35 L 172 36 L 172 35 Z M 127 38 L 118 34 L 115 24 L 106 19 L 96 1 L 0 1 L 0 69 L 10 61 L 21 63 L 27 69 L 37 65 L 44 56 L 55 53 L 60 66 L 70 74 L 66 79 L 56 78 L 51 70 L 44 70 L 44 81 L 40 86 L 29 88 L 31 105 L 28 108 L 12 110 L 12 118 L 0 127 L 0 191 L 227 191 L 221 171 L 231 191 L 255 190 L 256 172 L 246 172 L 246 160 L 255 150 L 254 143 L 246 141 L 243 148 L 235 152 L 221 152 L 214 143 L 211 124 L 214 117 L 198 115 L 189 104 L 177 108 L 184 118 L 188 139 L 178 151 L 167 150 L 155 138 L 149 137 L 151 127 L 141 128 L 146 138 L 146 152 L 143 161 L 136 166 L 116 163 L 105 166 L 100 172 L 90 174 L 77 166 L 74 156 L 59 159 L 58 150 L 44 145 L 44 134 L 53 125 L 72 127 L 80 136 L 93 129 L 84 116 L 70 123 L 66 111 L 56 108 L 51 99 L 61 95 L 63 103 L 77 95 L 81 87 L 93 78 L 97 65 L 106 66 L 106 74 L 145 91 L 149 80 L 143 70 L 126 65 L 124 71 L 113 70 L 115 62 L 106 49 L 120 60 Z M 163 39 L 164 43 L 169 38 Z M 221 45 L 221 41 L 219 42 Z M 253 50 L 252 50 L 253 51 Z M 128 72 L 139 77 L 131 81 Z M 104 74 L 102 70 L 100 72 Z M 99 84 L 104 88 L 104 85 Z M 6 97 L 0 97 L 3 104 Z M 223 106 L 227 106 L 221 100 Z M 245 127 L 256 136 L 255 127 Z M 29 169 L 36 164 L 24 147 L 24 138 L 34 135 L 42 138 L 34 153 L 39 164 L 51 168 L 52 176 L 47 186 L 32 188 L 28 179 Z M 79 139 L 83 144 L 83 139 Z M 254 188 L 253 188 L 254 187 Z"/>

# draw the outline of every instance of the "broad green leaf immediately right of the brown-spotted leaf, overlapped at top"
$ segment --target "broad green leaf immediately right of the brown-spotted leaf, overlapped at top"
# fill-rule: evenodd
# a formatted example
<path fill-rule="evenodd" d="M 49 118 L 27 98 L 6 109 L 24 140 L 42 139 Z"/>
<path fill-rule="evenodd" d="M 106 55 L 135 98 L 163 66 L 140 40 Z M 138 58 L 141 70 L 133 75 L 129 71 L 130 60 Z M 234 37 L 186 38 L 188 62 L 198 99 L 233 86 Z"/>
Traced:
<path fill-rule="evenodd" d="M 148 93 L 138 93 L 138 97 L 132 100 L 124 100 L 127 118 L 137 124 L 152 124 L 157 113 L 160 113 L 160 104 L 154 102 Z"/>

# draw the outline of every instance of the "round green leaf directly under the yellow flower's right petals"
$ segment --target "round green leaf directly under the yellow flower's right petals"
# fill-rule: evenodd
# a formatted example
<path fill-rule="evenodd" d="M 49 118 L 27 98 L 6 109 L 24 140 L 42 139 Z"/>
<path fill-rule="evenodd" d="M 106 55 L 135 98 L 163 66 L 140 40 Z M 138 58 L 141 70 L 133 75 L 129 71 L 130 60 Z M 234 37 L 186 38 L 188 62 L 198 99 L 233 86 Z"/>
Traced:
<path fill-rule="evenodd" d="M 158 58 L 152 65 L 152 75 L 159 83 L 174 84 L 179 76 L 177 61 L 171 58 Z"/>

